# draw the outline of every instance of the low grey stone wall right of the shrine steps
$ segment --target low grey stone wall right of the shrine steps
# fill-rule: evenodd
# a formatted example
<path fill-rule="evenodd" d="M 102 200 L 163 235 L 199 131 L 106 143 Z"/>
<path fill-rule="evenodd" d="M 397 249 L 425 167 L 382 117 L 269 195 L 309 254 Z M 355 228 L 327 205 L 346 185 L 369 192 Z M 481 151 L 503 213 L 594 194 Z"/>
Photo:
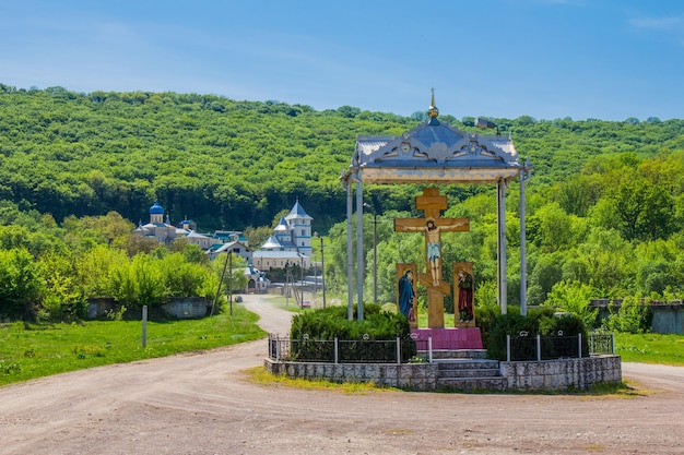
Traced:
<path fill-rule="evenodd" d="M 499 368 L 509 391 L 586 391 L 594 384 L 622 382 L 620 356 L 500 362 Z"/>

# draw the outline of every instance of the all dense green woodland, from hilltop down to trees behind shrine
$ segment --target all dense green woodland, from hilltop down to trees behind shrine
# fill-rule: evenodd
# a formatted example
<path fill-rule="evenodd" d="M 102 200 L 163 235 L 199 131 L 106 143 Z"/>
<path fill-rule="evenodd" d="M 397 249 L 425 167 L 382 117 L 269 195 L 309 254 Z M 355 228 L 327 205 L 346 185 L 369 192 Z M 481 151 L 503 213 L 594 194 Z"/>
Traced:
<path fill-rule="evenodd" d="M 345 193 L 339 176 L 351 161 L 355 137 L 398 135 L 424 119 L 421 111 L 411 117 L 350 106 L 316 111 L 214 95 L 80 94 L 0 84 L 0 318 L 35 315 L 42 306 L 80 302 L 93 294 L 125 296 L 129 302 L 135 296 L 148 299 L 144 289 L 133 291 L 126 284 L 126 274 L 114 272 L 115 264 L 126 262 L 119 252 L 129 258 L 131 283 L 145 276 L 149 266 L 157 267 L 160 289 L 164 280 L 181 280 L 164 274 L 174 268 L 164 261 L 176 261 L 176 268 L 181 262 L 209 267 L 190 246 L 164 253 L 129 236 L 135 223 L 149 219 L 155 200 L 173 223 L 187 216 L 201 231 L 253 232 L 271 228 L 274 215 L 299 200 L 314 217 L 314 230 L 328 237 L 331 290 L 344 290 Z M 474 117 L 439 119 L 475 131 Z M 628 295 L 682 297 L 684 120 L 490 119 L 511 134 L 521 159 L 534 168 L 527 183 L 531 304 L 581 306 L 589 298 Z M 520 285 L 516 184 L 507 203 L 512 304 L 519 301 Z M 365 191 L 379 219 L 379 300 L 393 301 L 393 264 L 424 259 L 421 237 L 393 232 L 391 219 L 420 215 L 413 197 L 421 189 L 368 185 Z M 441 191 L 449 197 L 446 215 L 471 219 L 470 232 L 445 236 L 444 263 L 473 261 L 476 298 L 488 303 L 496 277 L 494 189 Z M 366 223 L 370 271 L 372 215 Z M 140 252 L 158 264 L 148 264 L 137 256 Z M 111 263 L 104 264 L 107 258 Z M 99 265 L 92 264 L 96 260 Z M 84 270 L 97 270 L 107 279 L 89 278 Z M 217 283 L 197 280 L 185 291 L 211 295 Z M 175 286 L 173 292 L 180 292 L 182 286 Z"/>

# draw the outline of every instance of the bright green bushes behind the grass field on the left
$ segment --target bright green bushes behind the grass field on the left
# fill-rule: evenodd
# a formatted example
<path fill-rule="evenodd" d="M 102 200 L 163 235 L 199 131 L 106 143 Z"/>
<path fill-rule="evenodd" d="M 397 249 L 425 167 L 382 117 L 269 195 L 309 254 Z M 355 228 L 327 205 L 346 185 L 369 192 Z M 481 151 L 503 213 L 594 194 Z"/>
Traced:
<path fill-rule="evenodd" d="M 158 247 L 132 258 L 125 251 L 95 246 L 70 254 L 35 258 L 25 249 L 0 249 L 0 321 L 69 322 L 85 319 L 90 297 L 113 297 L 118 309 L 108 319 L 121 319 L 126 309 L 160 307 L 170 297 L 214 298 L 223 261 L 192 260 L 197 246 L 173 252 Z M 246 277 L 241 259 L 223 276 L 222 289 L 241 289 Z"/>

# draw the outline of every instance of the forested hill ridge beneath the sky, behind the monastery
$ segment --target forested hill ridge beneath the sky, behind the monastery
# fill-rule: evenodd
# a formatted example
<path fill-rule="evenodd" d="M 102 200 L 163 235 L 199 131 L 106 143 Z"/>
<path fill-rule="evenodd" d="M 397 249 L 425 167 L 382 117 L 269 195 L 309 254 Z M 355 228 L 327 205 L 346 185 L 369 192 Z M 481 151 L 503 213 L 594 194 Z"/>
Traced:
<path fill-rule="evenodd" d="M 339 176 L 356 135 L 401 134 L 424 120 L 426 107 L 400 117 L 349 106 L 316 111 L 213 95 L 0 84 L 0 200 L 58 223 L 110 211 L 146 221 L 158 200 L 172 221 L 187 216 L 204 231 L 267 226 L 299 200 L 325 231 L 345 216 Z M 439 119 L 475 130 L 473 117 Z M 684 120 L 492 120 L 534 167 L 530 191 L 545 191 L 605 156 L 684 148 Z M 412 189 L 379 191 L 382 209 L 411 208 Z"/>

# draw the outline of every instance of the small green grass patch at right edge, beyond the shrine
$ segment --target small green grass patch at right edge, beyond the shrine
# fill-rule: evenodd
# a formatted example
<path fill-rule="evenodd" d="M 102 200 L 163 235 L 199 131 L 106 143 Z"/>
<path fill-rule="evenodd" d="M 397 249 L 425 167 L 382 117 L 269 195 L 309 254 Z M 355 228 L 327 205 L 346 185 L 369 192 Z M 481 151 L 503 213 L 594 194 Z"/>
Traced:
<path fill-rule="evenodd" d="M 624 362 L 684 366 L 684 335 L 616 333 L 615 354 Z"/>

